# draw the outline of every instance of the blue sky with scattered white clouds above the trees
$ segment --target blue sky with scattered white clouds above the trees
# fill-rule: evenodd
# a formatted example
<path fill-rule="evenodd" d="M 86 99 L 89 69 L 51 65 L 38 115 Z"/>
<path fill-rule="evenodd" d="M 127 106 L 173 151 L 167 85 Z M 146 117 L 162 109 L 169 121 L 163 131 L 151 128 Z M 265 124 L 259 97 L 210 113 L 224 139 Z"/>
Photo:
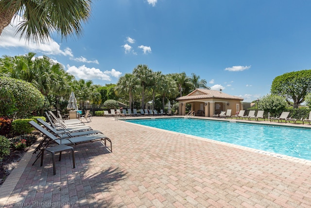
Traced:
<path fill-rule="evenodd" d="M 310 8 L 310 0 L 93 0 L 81 37 L 26 43 L 15 20 L 0 36 L 0 56 L 46 55 L 103 86 L 146 64 L 194 73 L 251 102 L 276 76 L 311 69 Z"/>

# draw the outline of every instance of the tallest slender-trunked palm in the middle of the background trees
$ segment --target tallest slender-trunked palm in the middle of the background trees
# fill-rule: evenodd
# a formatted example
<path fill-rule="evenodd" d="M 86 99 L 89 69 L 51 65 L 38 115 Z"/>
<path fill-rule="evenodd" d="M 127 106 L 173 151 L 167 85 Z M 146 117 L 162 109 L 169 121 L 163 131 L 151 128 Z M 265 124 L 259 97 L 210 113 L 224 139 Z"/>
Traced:
<path fill-rule="evenodd" d="M 137 67 L 133 70 L 133 75 L 136 76 L 139 80 L 139 84 L 141 86 L 141 107 L 144 108 L 145 106 L 145 87 L 148 86 L 150 76 L 152 74 L 152 70 L 148 68 L 147 65 L 138 64 Z"/>

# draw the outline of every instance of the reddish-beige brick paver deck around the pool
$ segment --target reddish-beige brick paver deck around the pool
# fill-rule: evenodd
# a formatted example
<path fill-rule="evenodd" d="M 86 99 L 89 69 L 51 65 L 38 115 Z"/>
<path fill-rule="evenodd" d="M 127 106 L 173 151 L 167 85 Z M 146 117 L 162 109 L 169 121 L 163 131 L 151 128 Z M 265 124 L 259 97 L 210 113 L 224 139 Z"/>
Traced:
<path fill-rule="evenodd" d="M 113 152 L 101 142 L 79 144 L 76 168 L 64 152 L 53 175 L 49 154 L 43 167 L 32 166 L 34 145 L 1 185 L 0 207 L 311 207 L 309 160 L 108 117 L 86 125 L 104 132 Z"/>

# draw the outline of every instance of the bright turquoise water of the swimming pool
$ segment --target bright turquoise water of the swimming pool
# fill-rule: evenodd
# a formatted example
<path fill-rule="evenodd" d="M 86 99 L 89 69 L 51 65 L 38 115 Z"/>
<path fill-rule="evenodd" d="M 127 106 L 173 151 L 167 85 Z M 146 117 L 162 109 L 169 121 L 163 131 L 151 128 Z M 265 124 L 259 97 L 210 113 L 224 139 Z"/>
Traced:
<path fill-rule="evenodd" d="M 187 118 L 126 121 L 311 160 L 309 129 Z"/>

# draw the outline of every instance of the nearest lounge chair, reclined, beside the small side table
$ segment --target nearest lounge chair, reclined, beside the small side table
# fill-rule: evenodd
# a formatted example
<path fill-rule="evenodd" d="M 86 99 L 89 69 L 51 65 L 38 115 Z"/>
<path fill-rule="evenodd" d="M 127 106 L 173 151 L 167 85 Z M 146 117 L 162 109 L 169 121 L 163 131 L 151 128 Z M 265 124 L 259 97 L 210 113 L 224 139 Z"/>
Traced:
<path fill-rule="evenodd" d="M 63 145 L 77 145 L 85 142 L 94 142 L 94 141 L 104 141 L 104 145 L 106 146 L 106 141 L 110 142 L 110 150 L 112 152 L 112 143 L 111 140 L 106 137 L 103 133 L 100 134 L 92 134 L 92 135 L 83 135 L 83 136 L 75 136 L 75 137 L 56 137 L 51 132 L 47 131 L 43 127 L 41 127 L 39 124 L 37 124 L 35 121 L 29 121 L 29 123 L 35 127 L 38 131 L 46 135 L 49 139 L 49 143 L 55 142 L 57 144 L 63 144 Z"/>

